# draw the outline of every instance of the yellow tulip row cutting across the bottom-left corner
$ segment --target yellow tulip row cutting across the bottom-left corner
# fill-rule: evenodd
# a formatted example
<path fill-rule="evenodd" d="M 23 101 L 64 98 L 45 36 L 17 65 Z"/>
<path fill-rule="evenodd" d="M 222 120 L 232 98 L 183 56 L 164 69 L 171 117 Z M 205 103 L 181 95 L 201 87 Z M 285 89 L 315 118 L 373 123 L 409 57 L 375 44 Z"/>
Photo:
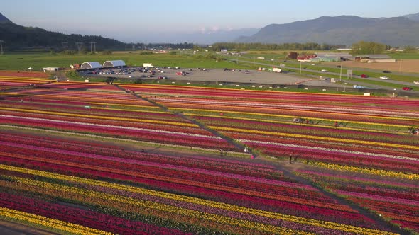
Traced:
<path fill-rule="evenodd" d="M 111 234 L 107 231 L 92 229 L 79 224 L 63 222 L 58 219 L 51 219 L 36 214 L 21 212 L 18 210 L 12 210 L 6 207 L 0 207 L 0 218 L 11 220 L 13 222 L 21 222 L 23 224 L 33 224 L 35 226 L 44 227 L 46 229 L 50 228 L 69 234 Z"/>

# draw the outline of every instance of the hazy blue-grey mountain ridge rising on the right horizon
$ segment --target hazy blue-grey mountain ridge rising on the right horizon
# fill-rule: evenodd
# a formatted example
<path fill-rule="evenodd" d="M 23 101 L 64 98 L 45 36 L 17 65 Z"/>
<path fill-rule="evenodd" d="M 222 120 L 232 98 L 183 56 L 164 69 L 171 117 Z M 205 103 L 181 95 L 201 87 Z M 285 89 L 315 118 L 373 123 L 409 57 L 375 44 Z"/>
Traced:
<path fill-rule="evenodd" d="M 258 33 L 240 37 L 235 42 L 316 42 L 330 45 L 352 45 L 360 40 L 385 45 L 419 45 L 419 13 L 392 18 L 359 16 L 322 16 L 314 20 L 271 24 Z"/>

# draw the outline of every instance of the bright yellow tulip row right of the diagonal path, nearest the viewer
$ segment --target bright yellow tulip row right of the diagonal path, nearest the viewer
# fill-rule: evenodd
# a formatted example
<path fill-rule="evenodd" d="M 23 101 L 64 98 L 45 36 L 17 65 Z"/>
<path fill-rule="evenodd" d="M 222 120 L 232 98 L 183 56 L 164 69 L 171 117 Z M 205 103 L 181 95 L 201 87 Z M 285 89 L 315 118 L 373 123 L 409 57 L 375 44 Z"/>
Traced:
<path fill-rule="evenodd" d="M 386 170 L 379 170 L 379 169 L 373 169 L 373 168 L 361 168 L 357 166 L 342 166 L 338 164 L 326 164 L 323 162 L 307 162 L 308 164 L 320 166 L 323 168 L 330 168 L 333 170 L 338 171 L 352 171 L 352 172 L 359 172 L 359 173 L 369 173 L 373 175 L 379 175 L 379 176 L 391 176 L 391 177 L 397 177 L 397 178 L 407 178 L 410 180 L 419 180 L 419 174 L 415 173 L 406 173 L 406 172 L 396 172 L 396 171 L 386 171 Z"/>

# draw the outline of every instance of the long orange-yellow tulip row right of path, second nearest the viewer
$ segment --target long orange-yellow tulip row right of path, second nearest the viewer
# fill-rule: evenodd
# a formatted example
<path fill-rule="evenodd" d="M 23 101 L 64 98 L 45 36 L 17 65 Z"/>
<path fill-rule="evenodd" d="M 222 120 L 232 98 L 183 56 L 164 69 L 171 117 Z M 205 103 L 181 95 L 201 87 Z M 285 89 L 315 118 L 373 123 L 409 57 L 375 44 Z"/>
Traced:
<path fill-rule="evenodd" d="M 342 139 L 342 138 L 335 138 L 335 137 L 320 137 L 320 136 L 312 136 L 308 134 L 266 132 L 266 131 L 261 131 L 261 130 L 246 130 L 246 129 L 239 129 L 239 128 L 231 128 L 231 127 L 215 127 L 215 126 L 209 126 L 209 127 L 214 130 L 219 130 L 219 131 L 243 132 L 243 133 L 252 133 L 252 134 L 268 134 L 268 135 L 280 136 L 280 137 L 316 139 L 316 140 L 325 140 L 325 141 L 334 141 L 334 142 L 347 142 L 347 143 L 352 143 L 352 144 L 369 144 L 369 145 L 376 145 L 376 146 L 386 146 L 386 147 L 419 150 L 419 146 L 412 146 L 412 145 L 405 145 L 405 144 L 391 144 L 391 143 L 372 142 L 372 141 L 359 140 L 359 139 Z"/>

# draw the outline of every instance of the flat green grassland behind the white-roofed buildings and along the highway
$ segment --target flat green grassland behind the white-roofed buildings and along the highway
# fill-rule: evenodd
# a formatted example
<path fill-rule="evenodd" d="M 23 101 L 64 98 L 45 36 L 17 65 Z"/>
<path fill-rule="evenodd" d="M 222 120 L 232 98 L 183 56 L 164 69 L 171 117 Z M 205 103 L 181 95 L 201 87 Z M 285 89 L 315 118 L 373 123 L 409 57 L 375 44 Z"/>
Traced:
<path fill-rule="evenodd" d="M 170 55 L 170 54 L 153 54 L 153 55 L 141 55 L 141 52 L 114 52 L 113 55 L 51 55 L 48 52 L 36 52 L 36 53 L 16 53 L 16 54 L 8 54 L 0 56 L 0 70 L 26 70 L 28 67 L 33 67 L 35 71 L 41 71 L 43 67 L 62 67 L 68 68 L 70 64 L 81 64 L 82 62 L 91 62 L 97 61 L 99 63 L 103 63 L 107 60 L 116 60 L 122 59 L 126 62 L 126 64 L 132 66 L 142 66 L 143 63 L 153 63 L 156 66 L 160 67 L 187 67 L 187 68 L 236 68 L 236 69 L 256 69 L 260 67 L 258 64 L 247 64 L 244 61 L 249 62 L 261 62 L 264 64 L 271 64 L 270 57 L 274 58 L 275 66 L 279 66 L 279 62 L 281 62 L 281 53 L 278 54 L 271 54 L 271 52 L 266 52 L 266 54 L 260 54 L 264 56 L 265 59 L 255 59 L 257 55 L 261 52 L 256 52 L 258 54 L 248 54 L 242 55 L 241 57 L 235 55 L 224 55 L 219 56 L 217 59 L 205 59 L 205 55 L 209 52 L 201 52 L 200 55 L 191 55 L 185 52 L 178 52 L 178 55 Z M 393 53 L 393 55 L 415 57 L 416 53 Z M 229 61 L 229 59 L 239 59 L 241 62 L 236 64 L 236 62 Z M 278 60 L 279 59 L 279 60 Z M 288 60 L 287 62 L 282 62 L 288 67 L 295 67 L 296 70 L 292 70 L 295 72 L 300 67 L 299 62 L 293 62 Z M 268 65 L 266 65 L 267 67 Z M 327 69 L 327 71 L 339 73 L 340 69 L 336 67 L 327 66 L 326 64 L 318 64 L 316 63 L 315 66 L 312 66 L 310 63 L 303 63 L 302 67 L 307 69 L 317 70 L 319 72 L 305 72 L 303 71 L 302 76 L 308 75 L 315 75 L 315 76 L 330 76 L 329 74 L 323 74 L 320 70 Z M 363 74 L 366 73 L 362 70 L 354 70 L 354 74 Z M 346 78 L 347 69 L 342 69 L 342 79 Z M 371 72 L 368 71 L 367 74 L 371 77 L 379 77 L 386 74 L 382 74 L 379 72 Z M 76 79 L 75 77 L 72 79 Z M 85 78 L 80 78 L 81 81 Z M 406 81 L 412 82 L 418 80 L 417 77 L 413 76 L 404 76 L 399 74 L 392 74 L 391 79 L 395 81 Z M 376 84 L 382 86 L 389 86 L 393 88 L 401 88 L 401 85 L 392 84 L 391 81 L 371 81 L 370 79 L 352 79 L 352 81 L 364 81 L 369 84 Z M 419 88 L 414 84 L 411 85 L 413 88 Z"/>

